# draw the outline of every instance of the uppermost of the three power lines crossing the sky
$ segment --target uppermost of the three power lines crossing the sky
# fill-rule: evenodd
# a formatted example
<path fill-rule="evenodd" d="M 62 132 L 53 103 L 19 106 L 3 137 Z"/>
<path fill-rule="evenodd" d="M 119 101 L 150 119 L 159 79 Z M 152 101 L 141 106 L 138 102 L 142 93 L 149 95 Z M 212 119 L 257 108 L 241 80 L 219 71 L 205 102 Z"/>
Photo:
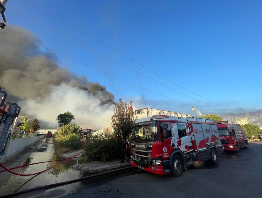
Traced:
<path fill-rule="evenodd" d="M 68 26 L 72 27 L 73 29 L 75 29 L 75 30 L 79 31 L 80 33 L 82 33 L 82 34 L 84 34 L 84 35 L 88 36 L 89 38 L 91 38 L 91 39 L 93 39 L 93 40 L 97 41 L 98 43 L 100 43 L 100 44 L 104 45 L 105 47 L 108 47 L 109 49 L 113 50 L 114 52 L 117 52 L 117 53 L 118 53 L 118 54 L 120 54 L 121 56 L 124 56 L 125 58 L 127 58 L 127 59 L 129 59 L 129 60 L 133 61 L 134 63 L 136 63 L 136 64 L 139 64 L 140 66 L 142 66 L 142 67 L 146 68 L 147 70 L 149 70 L 149 71 L 151 71 L 151 72 L 153 72 L 153 73 L 157 74 L 158 76 L 160 76 L 160 77 L 162 77 L 162 78 L 164 78 L 164 79 L 166 79 L 166 80 L 168 80 L 168 81 L 170 81 L 170 82 L 174 83 L 175 85 L 178 85 L 179 87 L 181 87 L 181 88 L 183 88 L 183 89 L 186 89 L 185 87 L 183 87 L 183 86 L 181 86 L 181 85 L 179 85 L 179 84 L 175 83 L 174 81 L 172 81 L 172 80 L 169 80 L 169 79 L 168 79 L 168 78 L 166 78 L 165 76 L 162 76 L 162 75 L 160 75 L 160 74 L 159 74 L 159 73 L 157 73 L 157 72 L 154 72 L 153 70 L 151 70 L 151 69 L 149 69 L 149 68 L 145 67 L 144 65 L 142 65 L 142 64 L 138 63 L 137 61 L 135 61 L 135 60 L 133 60 L 133 59 L 129 58 L 128 56 L 125 56 L 125 55 L 124 55 L 124 54 L 122 54 L 121 52 L 118 52 L 117 50 L 113 49 L 112 47 L 109 47 L 108 45 L 106 45 L 106 44 L 104 44 L 104 43 L 100 42 L 99 40 L 97 40 L 97 39 L 93 38 L 92 36 L 90 36 L 90 35 L 88 35 L 88 34 L 84 33 L 83 31 L 81 31 L 81 30 L 77 29 L 76 27 L 74 27 L 74 26 L 70 25 L 69 23 L 66 23 L 66 22 L 65 22 L 65 21 L 63 21 L 62 19 L 59 19 L 58 17 L 56 17 L 56 16 L 54 16 L 53 14 L 51 14 L 51 13 L 49 13 L 49 12 L 47 12 L 47 11 L 43 10 L 43 9 L 42 9 L 42 8 L 40 8 L 40 7 L 38 7 L 38 6 L 34 5 L 33 3 L 31 3 L 31 2 L 29 2 L 29 1 L 27 1 L 27 0 L 24 0 L 24 1 L 25 1 L 25 2 L 27 2 L 27 3 L 29 3 L 29 4 L 31 4 L 32 6 L 35 6 L 35 7 L 36 7 L 36 8 L 38 8 L 39 10 L 42 10 L 43 12 L 45 12 L 45 13 L 49 14 L 50 16 L 52 16 L 52 17 L 54 17 L 55 19 L 57 19 L 57 20 L 61 21 L 62 23 L 64 23 L 64 24 L 66 24 L 66 25 L 68 25 Z M 209 101 L 209 102 L 212 102 L 212 101 L 208 100 L 207 98 L 204 98 L 204 97 L 200 96 L 199 94 L 197 94 L 197 93 L 194 93 L 194 92 L 190 91 L 189 89 L 186 89 L 186 90 L 187 90 L 187 91 L 189 91 L 189 92 L 191 92 L 191 93 L 193 93 L 193 94 L 195 94 L 195 95 L 197 95 L 197 96 L 199 96 L 199 97 L 201 97 L 201 98 L 203 98 L 203 99 L 205 99 L 205 100 L 207 100 L 207 101 Z M 175 90 L 175 91 L 176 91 L 176 90 Z M 178 93 L 180 93 L 180 92 L 178 92 Z M 184 94 L 184 95 L 185 95 L 185 94 Z M 186 96 L 186 95 L 185 95 L 185 96 Z M 193 99 L 194 99 L 194 98 L 193 98 Z M 222 108 L 224 108 L 224 109 L 228 109 L 228 108 L 226 108 L 226 107 L 223 107 L 223 106 L 221 106 L 221 105 L 219 105 L 219 104 L 216 104 L 215 102 L 212 102 L 212 103 L 213 103 L 213 104 L 215 104 L 215 105 L 218 105 L 218 106 L 220 106 L 220 107 L 222 107 Z M 203 104 L 205 104 L 205 103 L 203 103 Z M 205 105 L 206 105 L 206 104 L 205 104 Z M 233 111 L 233 110 L 231 110 L 231 109 L 228 109 L 228 110 L 230 110 L 230 111 Z M 235 112 L 235 113 L 238 113 L 238 112 L 236 112 L 236 111 L 233 111 L 233 112 Z"/>

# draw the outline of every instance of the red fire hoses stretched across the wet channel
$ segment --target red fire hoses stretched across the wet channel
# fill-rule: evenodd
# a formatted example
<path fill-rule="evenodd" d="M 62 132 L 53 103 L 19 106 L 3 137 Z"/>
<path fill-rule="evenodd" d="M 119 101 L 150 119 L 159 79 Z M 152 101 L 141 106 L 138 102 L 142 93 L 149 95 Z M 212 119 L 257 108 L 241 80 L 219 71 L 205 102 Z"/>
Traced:
<path fill-rule="evenodd" d="M 83 151 L 77 153 L 76 155 L 79 155 L 79 154 L 82 153 L 82 152 L 83 152 Z M 59 163 L 59 164 L 57 164 L 57 165 L 55 165 L 55 166 L 49 167 L 49 168 L 47 168 L 47 169 L 45 169 L 45 170 L 43 170 L 43 171 L 39 171 L 39 172 L 36 172 L 36 173 L 31 173 L 31 174 L 20 174 L 20 173 L 16 173 L 16 172 L 14 172 L 14 171 L 11 171 L 11 170 L 12 170 L 12 169 L 15 169 L 15 168 L 19 168 L 19 167 L 30 166 L 30 165 L 33 165 L 33 164 L 46 163 L 46 162 L 37 162 L 37 163 L 26 164 L 26 165 L 22 165 L 22 166 L 18 166 L 18 167 L 13 167 L 13 168 L 7 168 L 7 167 L 5 167 L 5 166 L 0 162 L 0 166 L 1 166 L 3 169 L 5 169 L 5 170 L 2 170 L 2 171 L 0 171 L 0 172 L 8 171 L 8 172 L 10 172 L 10 173 L 12 173 L 12 174 L 14 174 L 14 175 L 19 175 L 19 176 L 38 175 L 38 174 L 43 173 L 43 172 L 45 172 L 45 171 L 48 171 L 48 170 L 50 170 L 50 169 L 52 169 L 52 168 L 54 168 L 54 167 L 57 167 L 57 166 L 59 166 L 60 164 L 69 161 L 70 159 L 77 158 L 76 155 L 74 155 L 74 156 L 72 156 L 72 157 L 70 157 L 70 158 L 66 158 L 66 159 L 57 159 L 57 160 L 46 161 L 46 162 L 54 162 L 54 161 L 62 161 L 62 160 L 65 160 L 65 161 L 63 161 L 63 162 L 61 162 L 61 163 Z"/>

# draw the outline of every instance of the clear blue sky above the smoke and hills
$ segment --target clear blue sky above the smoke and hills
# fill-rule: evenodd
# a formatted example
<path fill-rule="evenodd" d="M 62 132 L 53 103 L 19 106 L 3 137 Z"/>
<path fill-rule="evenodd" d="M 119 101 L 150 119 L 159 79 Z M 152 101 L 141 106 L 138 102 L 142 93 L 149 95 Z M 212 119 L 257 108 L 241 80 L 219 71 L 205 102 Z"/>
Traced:
<path fill-rule="evenodd" d="M 7 2 L 145 76 L 6 7 L 7 22 L 32 31 L 45 47 L 155 92 L 57 55 L 60 67 L 106 86 L 115 101 L 192 115 L 191 107 L 218 115 L 262 109 L 262 1 L 27 1 L 144 66 L 24 0 Z"/>

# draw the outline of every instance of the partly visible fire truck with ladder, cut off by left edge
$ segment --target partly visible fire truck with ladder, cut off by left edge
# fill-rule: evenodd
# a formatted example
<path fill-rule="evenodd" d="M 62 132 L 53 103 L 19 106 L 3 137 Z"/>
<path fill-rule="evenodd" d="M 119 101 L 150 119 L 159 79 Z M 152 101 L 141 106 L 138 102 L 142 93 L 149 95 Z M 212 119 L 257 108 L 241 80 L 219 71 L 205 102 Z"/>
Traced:
<path fill-rule="evenodd" d="M 8 130 L 21 110 L 16 103 L 5 102 L 6 97 L 7 93 L 0 87 L 0 153 L 5 145 Z"/>

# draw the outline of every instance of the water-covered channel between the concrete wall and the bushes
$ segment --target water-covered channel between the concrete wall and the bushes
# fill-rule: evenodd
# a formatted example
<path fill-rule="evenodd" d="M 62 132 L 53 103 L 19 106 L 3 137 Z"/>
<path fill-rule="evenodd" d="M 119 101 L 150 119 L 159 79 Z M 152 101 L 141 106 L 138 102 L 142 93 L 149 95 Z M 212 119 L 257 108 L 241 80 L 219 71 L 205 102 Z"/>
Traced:
<path fill-rule="evenodd" d="M 54 144 L 52 138 L 45 138 L 32 145 L 22 154 L 17 155 L 4 165 L 8 168 L 16 167 L 23 164 L 37 163 L 43 161 L 50 161 L 60 159 L 55 155 Z M 14 172 L 21 174 L 31 174 L 43 171 L 49 167 L 53 167 L 61 162 L 49 162 L 25 166 L 14 169 Z M 18 176 L 10 174 L 9 172 L 0 173 L 0 195 L 7 195 L 16 192 L 25 191 L 39 186 L 46 186 L 49 184 L 61 183 L 64 181 L 78 179 L 82 177 L 80 171 L 71 169 L 72 165 L 76 164 L 76 160 L 69 160 L 53 169 L 43 172 L 39 175 Z M 2 170 L 2 168 L 1 168 Z"/>

